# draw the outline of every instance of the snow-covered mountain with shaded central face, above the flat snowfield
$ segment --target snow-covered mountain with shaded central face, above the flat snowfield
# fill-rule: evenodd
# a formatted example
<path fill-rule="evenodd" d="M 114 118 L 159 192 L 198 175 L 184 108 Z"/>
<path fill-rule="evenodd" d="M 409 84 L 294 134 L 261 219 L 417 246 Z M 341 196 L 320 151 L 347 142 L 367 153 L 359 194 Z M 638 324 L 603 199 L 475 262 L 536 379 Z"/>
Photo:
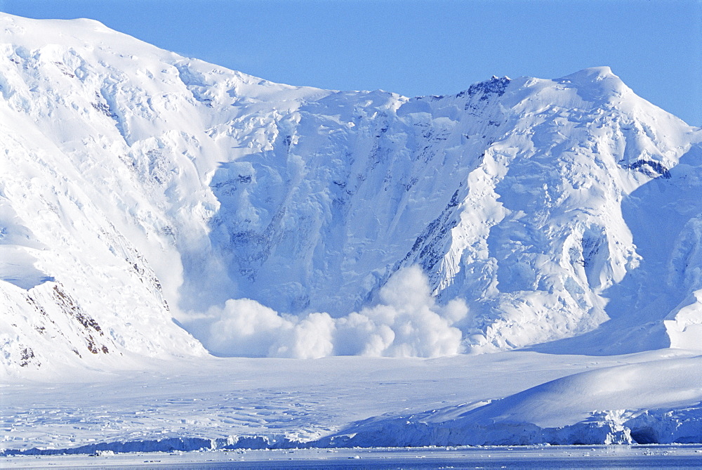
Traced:
<path fill-rule="evenodd" d="M 608 67 L 406 98 L 0 23 L 6 368 L 701 347 L 702 131 Z"/>

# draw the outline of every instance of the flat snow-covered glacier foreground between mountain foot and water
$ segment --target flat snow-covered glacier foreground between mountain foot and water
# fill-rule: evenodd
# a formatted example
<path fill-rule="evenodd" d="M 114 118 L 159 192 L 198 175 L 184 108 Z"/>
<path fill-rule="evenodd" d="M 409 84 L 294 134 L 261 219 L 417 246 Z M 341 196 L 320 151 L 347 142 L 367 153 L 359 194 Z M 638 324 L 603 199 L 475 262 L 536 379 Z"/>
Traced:
<path fill-rule="evenodd" d="M 701 443 L 702 357 L 506 351 L 145 360 L 5 384 L 6 455 L 294 447 Z M 72 373 L 67 373 L 72 372 Z"/>

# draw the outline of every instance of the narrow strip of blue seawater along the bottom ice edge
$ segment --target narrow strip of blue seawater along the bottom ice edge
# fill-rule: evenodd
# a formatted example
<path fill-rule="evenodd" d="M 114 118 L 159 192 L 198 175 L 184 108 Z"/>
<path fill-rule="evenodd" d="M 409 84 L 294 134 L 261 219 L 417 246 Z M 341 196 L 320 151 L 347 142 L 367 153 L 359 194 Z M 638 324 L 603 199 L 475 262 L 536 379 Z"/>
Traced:
<path fill-rule="evenodd" d="M 700 445 L 525 446 L 154 452 L 12 457 L 2 468 L 699 469 Z"/>

